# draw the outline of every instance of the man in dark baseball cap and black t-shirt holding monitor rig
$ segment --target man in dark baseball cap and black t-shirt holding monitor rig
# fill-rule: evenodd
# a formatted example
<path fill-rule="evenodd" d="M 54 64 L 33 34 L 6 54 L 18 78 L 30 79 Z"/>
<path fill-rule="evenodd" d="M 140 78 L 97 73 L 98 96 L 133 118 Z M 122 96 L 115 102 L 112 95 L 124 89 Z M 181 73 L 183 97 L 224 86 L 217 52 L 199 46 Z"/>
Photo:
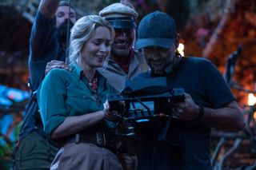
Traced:
<path fill-rule="evenodd" d="M 136 47 L 150 65 L 150 71 L 138 78 L 166 77 L 169 89 L 185 90 L 184 101 L 170 102 L 171 118 L 166 118 L 157 137 L 139 141 L 138 170 L 212 169 L 210 128 L 239 131 L 245 126 L 241 109 L 218 69 L 206 59 L 175 53 L 178 39 L 169 14 L 155 11 L 138 26 Z M 145 134 L 154 128 L 148 127 Z"/>

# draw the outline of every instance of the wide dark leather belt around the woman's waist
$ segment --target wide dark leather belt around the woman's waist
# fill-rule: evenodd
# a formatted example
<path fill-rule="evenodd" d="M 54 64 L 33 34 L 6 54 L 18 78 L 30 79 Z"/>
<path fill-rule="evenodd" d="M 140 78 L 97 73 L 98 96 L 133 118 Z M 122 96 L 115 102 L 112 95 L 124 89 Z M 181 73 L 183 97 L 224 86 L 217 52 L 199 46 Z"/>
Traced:
<path fill-rule="evenodd" d="M 62 146 L 64 144 L 69 143 L 89 143 L 96 144 L 98 147 L 107 148 L 111 152 L 116 153 L 116 144 L 114 136 L 107 135 L 108 133 L 104 131 L 94 132 L 94 133 L 76 133 L 73 136 L 69 136 L 62 142 Z"/>

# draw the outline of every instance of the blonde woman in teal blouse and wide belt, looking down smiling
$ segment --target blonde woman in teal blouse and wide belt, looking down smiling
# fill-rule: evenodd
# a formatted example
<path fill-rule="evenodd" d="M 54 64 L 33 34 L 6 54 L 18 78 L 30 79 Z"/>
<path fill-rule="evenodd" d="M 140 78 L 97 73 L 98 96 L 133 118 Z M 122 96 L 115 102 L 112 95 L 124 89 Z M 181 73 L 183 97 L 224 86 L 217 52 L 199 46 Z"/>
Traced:
<path fill-rule="evenodd" d="M 72 71 L 52 69 L 42 82 L 38 104 L 44 130 L 62 146 L 50 169 L 122 169 L 108 130 L 110 112 L 103 107 L 110 87 L 96 70 L 113 39 L 114 30 L 103 18 L 80 18 L 70 35 Z"/>

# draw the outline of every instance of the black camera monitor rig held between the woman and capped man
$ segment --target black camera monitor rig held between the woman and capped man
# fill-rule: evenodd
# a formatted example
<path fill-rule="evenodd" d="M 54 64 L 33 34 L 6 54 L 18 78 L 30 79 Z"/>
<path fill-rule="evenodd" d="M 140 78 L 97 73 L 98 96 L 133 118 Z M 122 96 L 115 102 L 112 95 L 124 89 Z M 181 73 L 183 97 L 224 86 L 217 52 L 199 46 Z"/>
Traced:
<path fill-rule="evenodd" d="M 126 81 L 121 94 L 107 96 L 110 108 L 117 111 L 126 136 L 137 136 L 134 128 L 158 122 L 166 117 L 175 118 L 172 103 L 184 101 L 184 89 L 168 89 L 166 77 L 138 78 Z M 116 132 L 120 135 L 120 132 Z"/>

